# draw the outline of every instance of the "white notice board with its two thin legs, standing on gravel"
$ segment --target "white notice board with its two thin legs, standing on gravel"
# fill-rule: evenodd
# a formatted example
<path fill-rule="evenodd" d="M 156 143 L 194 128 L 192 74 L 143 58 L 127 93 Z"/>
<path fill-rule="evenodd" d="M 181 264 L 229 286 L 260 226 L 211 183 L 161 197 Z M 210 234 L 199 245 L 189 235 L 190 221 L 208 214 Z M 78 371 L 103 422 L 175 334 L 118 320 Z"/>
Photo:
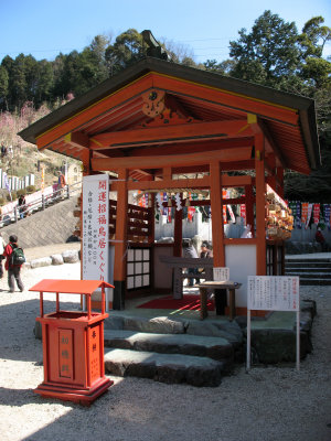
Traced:
<path fill-rule="evenodd" d="M 291 311 L 297 315 L 297 370 L 300 369 L 300 279 L 287 276 L 248 276 L 247 369 L 250 368 L 250 310 Z"/>

